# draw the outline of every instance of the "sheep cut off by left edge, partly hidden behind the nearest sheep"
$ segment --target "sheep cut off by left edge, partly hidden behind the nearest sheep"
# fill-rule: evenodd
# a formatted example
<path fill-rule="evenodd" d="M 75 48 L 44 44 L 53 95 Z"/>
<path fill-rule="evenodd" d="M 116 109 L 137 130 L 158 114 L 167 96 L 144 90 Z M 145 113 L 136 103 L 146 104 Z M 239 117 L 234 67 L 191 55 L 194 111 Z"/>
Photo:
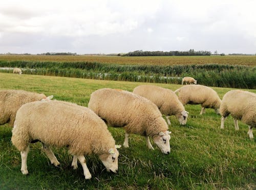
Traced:
<path fill-rule="evenodd" d="M 23 90 L 0 90 L 0 125 L 9 123 L 13 126 L 16 112 L 25 103 L 50 100 L 53 96 L 37 94 Z"/>

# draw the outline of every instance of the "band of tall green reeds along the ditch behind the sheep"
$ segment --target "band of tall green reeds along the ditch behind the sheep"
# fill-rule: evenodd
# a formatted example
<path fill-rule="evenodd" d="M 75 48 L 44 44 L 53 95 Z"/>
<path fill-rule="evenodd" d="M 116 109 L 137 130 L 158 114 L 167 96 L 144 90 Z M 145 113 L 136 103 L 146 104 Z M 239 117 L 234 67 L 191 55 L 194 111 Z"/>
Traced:
<path fill-rule="evenodd" d="M 192 76 L 212 87 L 256 88 L 256 67 L 233 65 L 118 65 L 96 62 L 0 61 L 0 67 L 24 68 L 25 74 L 107 79 L 130 82 L 181 84 Z M 2 70 L 2 72 L 11 72 Z"/>

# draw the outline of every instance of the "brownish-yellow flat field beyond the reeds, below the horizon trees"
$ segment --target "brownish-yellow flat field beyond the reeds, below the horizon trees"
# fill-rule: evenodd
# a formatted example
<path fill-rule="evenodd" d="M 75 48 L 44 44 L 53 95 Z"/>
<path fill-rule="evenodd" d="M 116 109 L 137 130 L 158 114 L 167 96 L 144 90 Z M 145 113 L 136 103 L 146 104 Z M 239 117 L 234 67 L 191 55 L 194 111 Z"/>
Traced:
<path fill-rule="evenodd" d="M 57 61 L 57 62 L 99 62 L 125 65 L 197 65 L 226 64 L 256 66 L 256 56 L 0 56 L 7 61 Z"/>

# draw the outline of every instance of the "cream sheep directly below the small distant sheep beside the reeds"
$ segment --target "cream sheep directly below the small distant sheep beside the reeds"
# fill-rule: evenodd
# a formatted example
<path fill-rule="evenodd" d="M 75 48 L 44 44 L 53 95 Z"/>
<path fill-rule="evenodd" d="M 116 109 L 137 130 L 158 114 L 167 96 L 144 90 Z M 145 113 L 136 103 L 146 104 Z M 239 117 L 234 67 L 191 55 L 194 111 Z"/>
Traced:
<path fill-rule="evenodd" d="M 179 93 L 179 100 L 183 105 L 201 104 L 200 115 L 205 114 L 205 108 L 214 108 L 220 114 L 221 99 L 216 91 L 203 85 L 186 85 L 174 91 Z"/>

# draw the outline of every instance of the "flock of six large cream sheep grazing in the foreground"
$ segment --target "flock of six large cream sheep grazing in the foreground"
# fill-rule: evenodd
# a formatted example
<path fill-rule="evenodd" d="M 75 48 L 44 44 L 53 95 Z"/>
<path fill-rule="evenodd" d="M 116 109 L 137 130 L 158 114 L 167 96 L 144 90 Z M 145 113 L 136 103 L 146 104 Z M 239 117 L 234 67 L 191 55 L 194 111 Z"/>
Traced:
<path fill-rule="evenodd" d="M 152 138 L 162 153 L 171 153 L 169 117 L 174 115 L 181 125 L 185 125 L 189 121 L 184 107 L 186 104 L 201 104 L 200 115 L 205 113 L 205 108 L 213 108 L 221 115 L 221 129 L 228 115 L 234 118 L 237 130 L 238 120 L 241 120 L 248 125 L 249 138 L 253 139 L 252 128 L 256 127 L 255 93 L 233 90 L 221 100 L 213 89 L 195 85 L 196 80 L 187 82 L 194 85 L 182 86 L 175 92 L 153 85 L 138 86 L 133 92 L 98 89 L 91 94 L 88 107 L 51 100 L 53 96 L 44 94 L 0 90 L 0 124 L 9 123 L 13 127 L 11 142 L 20 152 L 24 175 L 28 174 L 29 146 L 40 142 L 54 166 L 60 163 L 51 147 L 67 147 L 68 153 L 73 156 L 71 166 L 77 169 L 79 161 L 85 179 L 92 176 L 84 155 L 98 155 L 108 172 L 116 173 L 118 170 L 117 149 L 121 146 L 116 145 L 108 127 L 121 127 L 125 131 L 123 148 L 129 147 L 130 134 L 139 134 L 145 138 L 148 149 L 154 150 L 150 142 Z"/>

